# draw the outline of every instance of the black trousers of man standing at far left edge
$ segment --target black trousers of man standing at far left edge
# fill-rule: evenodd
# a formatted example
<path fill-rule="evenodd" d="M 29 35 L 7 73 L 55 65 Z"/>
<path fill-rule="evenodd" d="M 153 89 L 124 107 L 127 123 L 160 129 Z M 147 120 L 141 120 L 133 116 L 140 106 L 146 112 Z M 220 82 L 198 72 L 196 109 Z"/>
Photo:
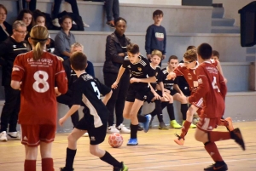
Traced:
<path fill-rule="evenodd" d="M 20 111 L 20 90 L 11 88 L 9 85 L 4 86 L 5 102 L 1 114 L 1 129 L 0 133 L 7 131 L 16 132 L 18 114 Z"/>

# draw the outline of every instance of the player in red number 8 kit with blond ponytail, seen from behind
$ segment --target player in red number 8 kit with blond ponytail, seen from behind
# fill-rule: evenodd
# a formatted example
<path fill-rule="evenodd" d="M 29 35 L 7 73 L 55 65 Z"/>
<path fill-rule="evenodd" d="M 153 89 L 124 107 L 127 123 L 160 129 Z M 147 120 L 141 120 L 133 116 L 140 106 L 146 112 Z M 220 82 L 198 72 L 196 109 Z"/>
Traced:
<path fill-rule="evenodd" d="M 61 60 L 45 52 L 49 43 L 46 27 L 34 26 L 28 40 L 32 51 L 17 56 L 11 81 L 12 88 L 20 89 L 19 123 L 21 143 L 26 151 L 24 170 L 36 170 L 40 145 L 42 171 L 54 171 L 51 146 L 57 119 L 55 96 L 67 92 L 66 73 Z"/>

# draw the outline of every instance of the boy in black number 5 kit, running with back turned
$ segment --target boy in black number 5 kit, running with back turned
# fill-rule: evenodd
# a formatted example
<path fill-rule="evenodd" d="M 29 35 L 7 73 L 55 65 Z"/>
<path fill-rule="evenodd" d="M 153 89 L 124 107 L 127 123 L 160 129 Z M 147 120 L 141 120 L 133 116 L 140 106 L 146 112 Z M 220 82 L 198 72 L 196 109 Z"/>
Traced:
<path fill-rule="evenodd" d="M 68 135 L 66 166 L 61 168 L 61 171 L 73 171 L 77 140 L 86 132 L 90 137 L 90 153 L 92 155 L 100 157 L 102 161 L 112 165 L 113 171 L 127 171 L 128 168 L 123 162 L 118 162 L 108 151 L 99 148 L 99 144 L 104 141 L 106 136 L 109 115 L 106 104 L 111 97 L 111 89 L 84 71 L 87 66 L 87 58 L 82 52 L 72 54 L 70 62 L 78 79 L 73 83 L 73 105 L 67 114 L 59 120 L 59 124 L 63 125 L 68 117 L 78 111 L 81 102 L 86 107 L 83 111 L 84 117 L 75 126 L 73 132 Z M 103 100 L 101 100 L 101 94 L 105 95 Z"/>

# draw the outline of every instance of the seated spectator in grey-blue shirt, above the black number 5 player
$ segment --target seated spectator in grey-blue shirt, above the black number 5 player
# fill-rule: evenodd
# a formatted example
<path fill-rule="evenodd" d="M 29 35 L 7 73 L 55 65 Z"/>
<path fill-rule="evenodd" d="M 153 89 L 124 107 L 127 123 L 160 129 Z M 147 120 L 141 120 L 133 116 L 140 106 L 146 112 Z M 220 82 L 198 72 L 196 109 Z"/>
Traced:
<path fill-rule="evenodd" d="M 70 56 L 70 47 L 76 43 L 76 39 L 70 29 L 72 27 L 72 18 L 68 15 L 60 19 L 61 31 L 55 36 L 55 52 L 54 54 L 61 56 L 63 60 L 67 60 Z"/>

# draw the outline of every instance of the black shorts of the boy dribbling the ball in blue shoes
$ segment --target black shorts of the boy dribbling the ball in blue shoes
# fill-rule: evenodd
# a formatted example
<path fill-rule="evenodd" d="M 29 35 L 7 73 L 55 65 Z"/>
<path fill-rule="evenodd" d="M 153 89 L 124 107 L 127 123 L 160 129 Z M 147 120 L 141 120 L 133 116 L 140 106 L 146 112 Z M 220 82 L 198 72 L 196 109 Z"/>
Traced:
<path fill-rule="evenodd" d="M 130 84 L 126 96 L 126 101 L 134 102 L 135 99 L 137 100 L 147 100 L 148 92 L 150 92 L 150 88 L 147 84 Z"/>

